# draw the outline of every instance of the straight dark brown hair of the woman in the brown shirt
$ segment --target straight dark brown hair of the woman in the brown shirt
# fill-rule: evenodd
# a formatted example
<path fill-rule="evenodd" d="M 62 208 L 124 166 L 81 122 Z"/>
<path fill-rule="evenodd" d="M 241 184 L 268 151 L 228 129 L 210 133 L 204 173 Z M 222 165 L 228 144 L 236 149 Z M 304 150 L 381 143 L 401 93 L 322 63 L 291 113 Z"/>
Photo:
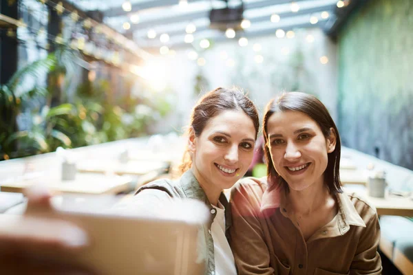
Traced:
<path fill-rule="evenodd" d="M 289 190 L 286 181 L 282 177 L 279 177 L 274 168 L 270 148 L 268 147 L 268 119 L 271 115 L 273 115 L 273 113 L 284 111 L 299 111 L 301 113 L 305 113 L 317 122 L 324 134 L 324 137 L 326 138 L 330 136 L 330 128 L 334 129 L 337 136 L 337 141 L 335 150 L 332 151 L 332 153 L 328 153 L 328 164 L 326 170 L 324 171 L 324 182 L 327 184 L 331 194 L 343 192 L 339 176 L 341 142 L 337 126 L 332 120 L 330 113 L 328 113 L 326 106 L 324 106 L 320 100 L 310 94 L 300 93 L 297 91 L 284 93 L 278 98 L 274 98 L 268 102 L 264 112 L 263 134 L 265 140 L 264 151 L 267 163 L 268 183 L 274 187 L 281 184 L 284 190 Z"/>

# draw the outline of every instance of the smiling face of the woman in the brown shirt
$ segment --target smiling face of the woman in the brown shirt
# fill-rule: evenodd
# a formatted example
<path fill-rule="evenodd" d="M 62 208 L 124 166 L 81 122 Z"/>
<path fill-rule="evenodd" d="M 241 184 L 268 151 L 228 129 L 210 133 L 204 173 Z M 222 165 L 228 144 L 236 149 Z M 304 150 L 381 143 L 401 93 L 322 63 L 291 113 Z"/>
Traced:
<path fill-rule="evenodd" d="M 317 122 L 299 111 L 273 113 L 267 124 L 271 159 L 292 190 L 324 184 L 328 153 L 335 150 L 335 131 L 326 138 Z"/>

